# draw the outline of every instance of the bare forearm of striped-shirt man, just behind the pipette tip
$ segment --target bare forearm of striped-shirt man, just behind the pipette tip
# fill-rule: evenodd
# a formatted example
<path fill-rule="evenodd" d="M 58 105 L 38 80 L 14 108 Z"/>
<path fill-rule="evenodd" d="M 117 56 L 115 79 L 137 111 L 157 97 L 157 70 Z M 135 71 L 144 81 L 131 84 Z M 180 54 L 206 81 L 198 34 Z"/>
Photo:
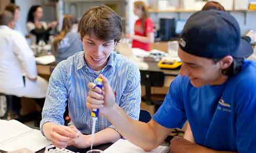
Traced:
<path fill-rule="evenodd" d="M 92 135 L 88 135 L 88 142 L 92 143 Z M 93 145 L 101 145 L 106 143 L 114 143 L 119 138 L 121 138 L 121 135 L 116 132 L 113 128 L 106 128 L 102 131 L 99 131 L 95 134 Z"/>

